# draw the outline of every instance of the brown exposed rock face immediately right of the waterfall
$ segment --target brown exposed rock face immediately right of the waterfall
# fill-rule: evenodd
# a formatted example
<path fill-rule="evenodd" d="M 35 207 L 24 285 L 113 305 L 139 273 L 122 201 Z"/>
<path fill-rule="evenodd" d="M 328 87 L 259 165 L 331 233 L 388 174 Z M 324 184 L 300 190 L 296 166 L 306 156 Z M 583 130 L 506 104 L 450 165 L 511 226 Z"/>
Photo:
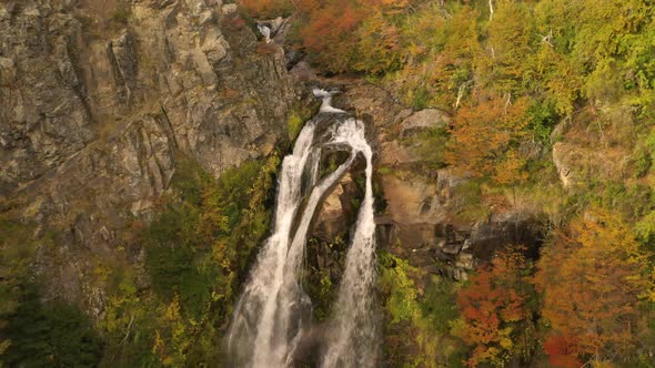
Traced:
<path fill-rule="evenodd" d="M 436 109 L 413 112 L 370 84 L 349 85 L 335 100 L 336 106 L 355 111 L 369 122 L 375 143 L 377 182 L 386 202 L 386 208 L 377 216 L 381 246 L 429 272 L 465 278 L 475 263 L 488 260 L 500 246 L 533 241 L 525 214 L 492 213 L 482 221 L 466 223 L 456 218 L 457 187 L 466 181 L 447 168 L 427 166 L 412 140 L 416 134 L 446 127 L 446 113 Z M 347 201 L 339 187 L 331 197 Z M 331 197 L 326 203 L 331 203 Z M 330 208 L 322 209 L 315 234 L 344 223 Z"/>

